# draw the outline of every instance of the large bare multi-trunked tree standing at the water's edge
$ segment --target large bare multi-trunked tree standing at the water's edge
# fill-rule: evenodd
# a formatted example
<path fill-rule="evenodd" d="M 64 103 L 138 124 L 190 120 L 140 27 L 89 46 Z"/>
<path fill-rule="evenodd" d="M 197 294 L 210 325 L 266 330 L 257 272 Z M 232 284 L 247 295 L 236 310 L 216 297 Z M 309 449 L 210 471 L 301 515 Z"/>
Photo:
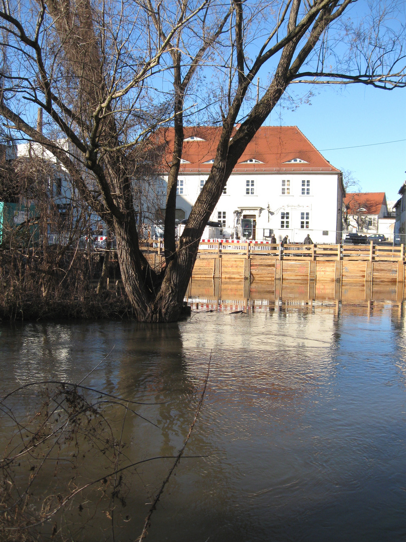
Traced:
<path fill-rule="evenodd" d="M 403 4 L 391 3 L 391 11 L 373 5 L 368 13 L 362 4 L 357 13 L 358 4 L 3 3 L 0 114 L 11 128 L 55 154 L 112 229 L 123 283 L 139 320 L 180 317 L 200 237 L 227 178 L 289 85 L 406 85 L 404 25 L 393 17 Z M 255 103 L 252 85 L 258 76 L 265 78 L 265 70 L 269 83 Z M 211 84 L 199 86 L 200 75 Z M 195 111 L 194 93 L 206 118 L 221 119 L 220 138 L 176 247 L 176 182 L 184 118 Z M 57 138 L 32 127 L 33 105 L 43 108 Z M 174 125 L 175 145 L 168 167 L 166 266 L 156 273 L 140 250 L 133 179 L 154 146 L 151 134 L 168 124 Z"/>

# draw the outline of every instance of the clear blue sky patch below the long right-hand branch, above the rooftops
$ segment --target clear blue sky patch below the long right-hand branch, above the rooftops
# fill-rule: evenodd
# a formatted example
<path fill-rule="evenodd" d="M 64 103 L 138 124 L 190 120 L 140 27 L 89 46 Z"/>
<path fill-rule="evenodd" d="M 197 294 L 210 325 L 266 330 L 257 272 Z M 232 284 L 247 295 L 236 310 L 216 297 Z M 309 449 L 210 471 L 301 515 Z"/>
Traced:
<path fill-rule="evenodd" d="M 352 172 L 363 192 L 397 200 L 406 179 L 406 89 L 326 85 L 315 92 L 295 111 L 277 106 L 266 124 L 298 126 L 333 166 Z"/>

